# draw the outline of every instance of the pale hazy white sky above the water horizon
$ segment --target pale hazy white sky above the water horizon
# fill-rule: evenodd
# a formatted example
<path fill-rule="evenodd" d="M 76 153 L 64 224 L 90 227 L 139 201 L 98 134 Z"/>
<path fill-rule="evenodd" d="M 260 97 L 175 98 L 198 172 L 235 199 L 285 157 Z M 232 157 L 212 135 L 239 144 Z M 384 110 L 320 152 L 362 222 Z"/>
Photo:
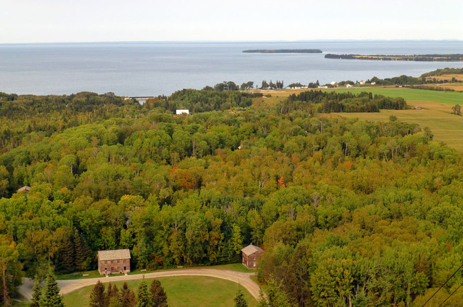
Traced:
<path fill-rule="evenodd" d="M 0 43 L 463 40 L 463 0 L 0 1 Z"/>

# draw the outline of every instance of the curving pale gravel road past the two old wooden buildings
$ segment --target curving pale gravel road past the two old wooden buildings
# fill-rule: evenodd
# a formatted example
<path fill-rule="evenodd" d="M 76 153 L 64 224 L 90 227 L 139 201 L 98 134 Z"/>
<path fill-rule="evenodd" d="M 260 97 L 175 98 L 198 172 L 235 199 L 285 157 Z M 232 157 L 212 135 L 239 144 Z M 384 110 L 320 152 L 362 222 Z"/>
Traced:
<path fill-rule="evenodd" d="M 241 286 L 246 288 L 247 291 L 254 297 L 259 297 L 259 285 L 253 282 L 250 278 L 255 273 L 241 273 L 230 270 L 218 270 L 218 269 L 183 269 L 175 271 L 162 271 L 145 274 L 145 278 L 157 278 L 157 277 L 171 277 L 171 276 L 210 276 L 222 279 L 231 280 L 232 282 L 239 283 Z M 88 278 L 88 279 L 74 279 L 74 280 L 58 280 L 58 287 L 60 287 L 60 294 L 68 294 L 77 289 L 95 285 L 99 280 L 103 283 L 124 281 L 124 280 L 137 280 L 141 279 L 142 274 L 127 275 L 127 276 L 114 276 L 114 277 L 100 277 L 100 278 Z M 19 293 L 25 298 L 29 299 L 32 297 L 33 282 L 25 278 L 23 285 L 19 288 Z"/>

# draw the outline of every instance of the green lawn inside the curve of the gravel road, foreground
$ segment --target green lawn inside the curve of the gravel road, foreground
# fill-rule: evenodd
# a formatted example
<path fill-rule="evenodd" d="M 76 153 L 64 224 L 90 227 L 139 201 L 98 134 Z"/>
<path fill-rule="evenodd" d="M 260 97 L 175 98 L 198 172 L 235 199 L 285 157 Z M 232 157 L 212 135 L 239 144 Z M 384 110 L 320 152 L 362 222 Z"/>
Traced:
<path fill-rule="evenodd" d="M 178 307 L 228 307 L 233 306 L 233 298 L 238 284 L 220 278 L 204 276 L 175 276 L 157 278 L 167 293 L 169 306 Z M 147 279 L 148 285 L 151 283 Z M 140 280 L 127 281 L 130 288 L 136 289 Z M 120 289 L 123 282 L 115 282 Z M 104 284 L 108 286 L 107 283 Z M 66 307 L 88 306 L 94 286 L 84 287 L 63 297 Z M 257 306 L 257 301 L 242 288 L 249 307 Z"/>

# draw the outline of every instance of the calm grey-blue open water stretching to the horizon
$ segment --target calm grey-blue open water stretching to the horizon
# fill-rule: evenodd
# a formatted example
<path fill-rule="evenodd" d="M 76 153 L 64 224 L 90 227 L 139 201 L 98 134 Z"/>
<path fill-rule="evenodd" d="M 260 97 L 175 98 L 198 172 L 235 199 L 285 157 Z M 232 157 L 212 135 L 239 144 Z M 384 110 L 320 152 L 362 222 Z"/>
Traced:
<path fill-rule="evenodd" d="M 245 49 L 321 49 L 323 54 L 242 53 Z M 221 43 L 0 44 L 0 91 L 17 94 L 169 95 L 224 80 L 327 83 L 421 74 L 463 62 L 325 59 L 325 53 L 463 53 L 463 41 L 309 41 Z"/>

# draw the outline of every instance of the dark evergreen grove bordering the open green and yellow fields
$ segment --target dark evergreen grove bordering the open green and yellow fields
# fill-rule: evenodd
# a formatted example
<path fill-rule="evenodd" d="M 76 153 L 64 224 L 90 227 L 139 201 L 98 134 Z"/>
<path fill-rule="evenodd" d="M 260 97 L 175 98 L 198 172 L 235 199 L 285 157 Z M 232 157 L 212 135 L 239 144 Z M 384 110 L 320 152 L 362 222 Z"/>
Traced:
<path fill-rule="evenodd" d="M 316 106 L 317 105 L 317 106 Z M 331 112 L 379 112 L 380 109 L 403 110 L 408 106 L 401 97 L 391 98 L 371 92 L 328 92 L 321 90 L 292 94 L 280 103 L 277 109 L 282 113 L 304 110 L 310 114 Z"/>

